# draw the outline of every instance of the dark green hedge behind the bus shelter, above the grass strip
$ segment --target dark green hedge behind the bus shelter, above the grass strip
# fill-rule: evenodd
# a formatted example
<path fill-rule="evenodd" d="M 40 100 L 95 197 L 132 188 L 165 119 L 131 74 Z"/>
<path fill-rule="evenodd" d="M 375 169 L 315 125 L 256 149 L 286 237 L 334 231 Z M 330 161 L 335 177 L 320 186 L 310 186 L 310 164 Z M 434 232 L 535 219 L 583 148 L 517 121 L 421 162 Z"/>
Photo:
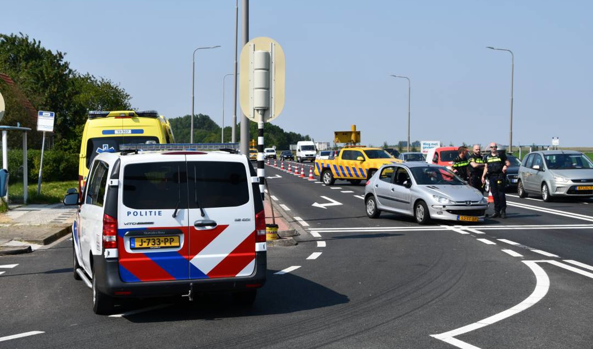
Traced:
<path fill-rule="evenodd" d="M 0 153 L 0 159 L 2 154 Z M 59 182 L 62 180 L 78 180 L 78 154 L 63 153 L 58 150 L 46 150 L 43 153 L 44 182 Z M 29 182 L 39 177 L 41 150 L 27 151 L 27 172 Z M 23 180 L 23 150 L 8 150 L 8 179 L 9 183 Z"/>

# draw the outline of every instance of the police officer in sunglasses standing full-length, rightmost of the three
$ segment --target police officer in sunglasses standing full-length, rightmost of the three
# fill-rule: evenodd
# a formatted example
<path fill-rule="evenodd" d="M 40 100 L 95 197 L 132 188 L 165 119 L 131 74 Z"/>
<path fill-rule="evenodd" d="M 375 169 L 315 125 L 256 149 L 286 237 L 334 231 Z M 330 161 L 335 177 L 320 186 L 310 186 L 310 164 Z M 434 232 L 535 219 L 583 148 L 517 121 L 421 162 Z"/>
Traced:
<path fill-rule="evenodd" d="M 494 214 L 492 218 L 506 218 L 505 176 L 509 161 L 504 152 L 498 153 L 496 143 L 490 143 L 490 153 L 484 157 L 484 172 L 482 183 L 486 183 L 486 175 L 490 180 L 490 191 L 494 199 Z"/>

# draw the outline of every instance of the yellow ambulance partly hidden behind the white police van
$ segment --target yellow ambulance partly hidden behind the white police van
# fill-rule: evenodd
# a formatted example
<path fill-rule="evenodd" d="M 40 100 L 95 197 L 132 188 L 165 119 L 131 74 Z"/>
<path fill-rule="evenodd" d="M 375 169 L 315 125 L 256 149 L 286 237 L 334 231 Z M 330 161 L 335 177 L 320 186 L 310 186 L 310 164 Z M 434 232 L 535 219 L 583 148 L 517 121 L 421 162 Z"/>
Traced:
<path fill-rule="evenodd" d="M 78 164 L 78 192 L 87 182 L 88 169 L 97 154 L 115 153 L 120 144 L 174 143 L 171 124 L 156 110 L 93 111 L 84 125 Z"/>

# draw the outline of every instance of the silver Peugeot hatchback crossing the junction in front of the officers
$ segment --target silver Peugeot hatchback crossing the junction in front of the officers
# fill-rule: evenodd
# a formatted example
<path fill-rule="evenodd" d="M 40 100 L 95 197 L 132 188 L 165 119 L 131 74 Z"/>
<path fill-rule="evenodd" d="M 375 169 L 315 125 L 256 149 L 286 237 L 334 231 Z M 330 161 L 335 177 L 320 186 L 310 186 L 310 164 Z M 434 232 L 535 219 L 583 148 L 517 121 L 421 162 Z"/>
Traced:
<path fill-rule="evenodd" d="M 369 218 L 381 211 L 412 215 L 420 224 L 431 219 L 483 221 L 488 199 L 446 167 L 426 163 L 382 166 L 366 182 Z"/>

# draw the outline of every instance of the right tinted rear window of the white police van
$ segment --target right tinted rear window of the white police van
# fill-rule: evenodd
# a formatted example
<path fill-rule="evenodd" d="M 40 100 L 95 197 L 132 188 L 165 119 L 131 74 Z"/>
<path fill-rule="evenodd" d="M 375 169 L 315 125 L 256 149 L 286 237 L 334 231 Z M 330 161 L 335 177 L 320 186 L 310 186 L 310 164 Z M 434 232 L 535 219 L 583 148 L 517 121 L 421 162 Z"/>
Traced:
<path fill-rule="evenodd" d="M 249 202 L 249 182 L 243 163 L 188 161 L 190 208 L 236 207 Z"/>

